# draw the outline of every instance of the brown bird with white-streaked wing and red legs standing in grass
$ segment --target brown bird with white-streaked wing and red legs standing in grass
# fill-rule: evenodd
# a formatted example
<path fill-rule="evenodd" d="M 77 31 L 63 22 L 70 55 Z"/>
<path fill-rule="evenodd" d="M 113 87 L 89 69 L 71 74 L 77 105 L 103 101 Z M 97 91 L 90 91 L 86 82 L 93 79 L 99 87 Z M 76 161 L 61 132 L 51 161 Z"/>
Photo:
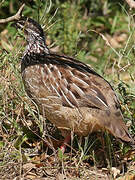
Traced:
<path fill-rule="evenodd" d="M 101 75 L 87 64 L 51 52 L 41 25 L 21 17 L 15 27 L 24 32 L 27 46 L 21 59 L 25 91 L 43 117 L 70 141 L 71 132 L 88 136 L 108 131 L 123 142 L 134 143 L 124 122 L 119 99 Z"/>

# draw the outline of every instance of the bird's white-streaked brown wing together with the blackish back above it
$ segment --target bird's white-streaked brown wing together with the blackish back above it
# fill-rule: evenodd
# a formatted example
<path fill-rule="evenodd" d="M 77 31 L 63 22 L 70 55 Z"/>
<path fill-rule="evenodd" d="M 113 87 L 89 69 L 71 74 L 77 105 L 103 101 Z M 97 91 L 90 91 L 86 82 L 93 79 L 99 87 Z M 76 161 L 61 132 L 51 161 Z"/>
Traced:
<path fill-rule="evenodd" d="M 34 60 L 32 61 L 33 57 Z M 31 64 L 28 64 L 29 58 Z M 50 86 L 49 89 L 53 93 L 61 96 L 64 106 L 84 106 L 102 110 L 108 108 L 106 95 L 103 93 L 102 88 L 100 89 L 103 85 L 99 81 L 101 80 L 109 89 L 112 87 L 86 64 L 71 57 L 56 54 L 41 54 L 40 56 L 39 54 L 32 54 L 31 57 L 26 57 L 25 61 L 22 70 L 24 67 L 34 64 L 40 64 L 43 67 L 41 69 L 44 73 L 41 71 L 41 74 L 45 74 L 44 83 L 48 87 Z"/>

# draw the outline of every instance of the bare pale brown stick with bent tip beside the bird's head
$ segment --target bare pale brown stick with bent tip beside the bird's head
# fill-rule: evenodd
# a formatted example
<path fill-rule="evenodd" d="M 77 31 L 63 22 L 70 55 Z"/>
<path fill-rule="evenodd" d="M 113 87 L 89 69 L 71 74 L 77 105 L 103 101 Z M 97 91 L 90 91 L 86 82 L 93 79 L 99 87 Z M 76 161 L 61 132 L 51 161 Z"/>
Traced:
<path fill-rule="evenodd" d="M 6 19 L 0 19 L 0 24 L 4 24 L 4 23 L 10 22 L 10 21 L 14 21 L 14 20 L 19 20 L 21 18 L 21 16 L 22 16 L 22 11 L 23 11 L 24 6 L 25 6 L 25 4 L 23 4 L 20 7 L 18 12 L 14 16 L 8 17 Z"/>

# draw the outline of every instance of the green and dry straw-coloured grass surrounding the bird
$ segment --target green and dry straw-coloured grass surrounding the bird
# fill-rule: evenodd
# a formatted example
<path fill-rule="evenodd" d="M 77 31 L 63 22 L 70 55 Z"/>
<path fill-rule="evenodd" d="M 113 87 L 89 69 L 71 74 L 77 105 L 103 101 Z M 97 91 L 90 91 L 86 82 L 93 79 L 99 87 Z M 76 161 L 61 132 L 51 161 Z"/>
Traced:
<path fill-rule="evenodd" d="M 134 11 L 129 14 L 125 5 L 106 0 L 97 1 L 97 6 L 91 1 L 90 8 L 87 3 L 36 1 L 32 8 L 27 4 L 24 14 L 44 26 L 52 50 L 90 64 L 111 82 L 134 135 Z M 8 6 L 5 0 L 2 8 Z M 131 148 L 106 133 L 92 134 L 82 141 L 75 135 L 64 155 L 58 152 L 56 156 L 57 148 L 46 146 L 49 141 L 51 147 L 58 147 L 62 137 L 55 127 L 45 123 L 24 91 L 20 58 L 26 43 L 10 24 L 3 28 L 0 38 L 0 179 L 113 179 L 112 167 L 117 170 L 119 166 L 118 176 L 130 171 L 134 174 Z"/>

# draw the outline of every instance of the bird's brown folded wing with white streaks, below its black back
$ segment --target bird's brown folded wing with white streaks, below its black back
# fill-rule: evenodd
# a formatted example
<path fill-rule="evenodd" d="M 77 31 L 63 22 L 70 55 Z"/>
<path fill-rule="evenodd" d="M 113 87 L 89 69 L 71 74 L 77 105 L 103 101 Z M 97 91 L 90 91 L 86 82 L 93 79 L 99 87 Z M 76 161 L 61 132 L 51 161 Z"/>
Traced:
<path fill-rule="evenodd" d="M 44 68 L 50 69 L 49 65 L 45 65 Z M 55 69 L 55 71 L 54 71 Z M 68 107 L 91 107 L 106 110 L 108 105 L 106 103 L 103 93 L 90 82 L 88 83 L 88 75 L 84 75 L 80 79 L 82 74 L 78 72 L 73 72 L 73 68 L 68 67 L 65 70 L 63 67 L 59 68 L 59 65 L 54 65 L 52 70 L 45 70 L 48 72 L 49 84 L 52 83 L 52 79 L 56 82 L 53 83 L 52 91 L 55 90 L 57 94 L 62 97 L 62 103 L 64 106 Z M 57 76 L 56 76 L 57 75 Z M 52 78 L 54 77 L 54 78 Z M 85 79 L 87 81 L 85 81 Z M 56 86 L 56 84 L 58 84 Z"/>

